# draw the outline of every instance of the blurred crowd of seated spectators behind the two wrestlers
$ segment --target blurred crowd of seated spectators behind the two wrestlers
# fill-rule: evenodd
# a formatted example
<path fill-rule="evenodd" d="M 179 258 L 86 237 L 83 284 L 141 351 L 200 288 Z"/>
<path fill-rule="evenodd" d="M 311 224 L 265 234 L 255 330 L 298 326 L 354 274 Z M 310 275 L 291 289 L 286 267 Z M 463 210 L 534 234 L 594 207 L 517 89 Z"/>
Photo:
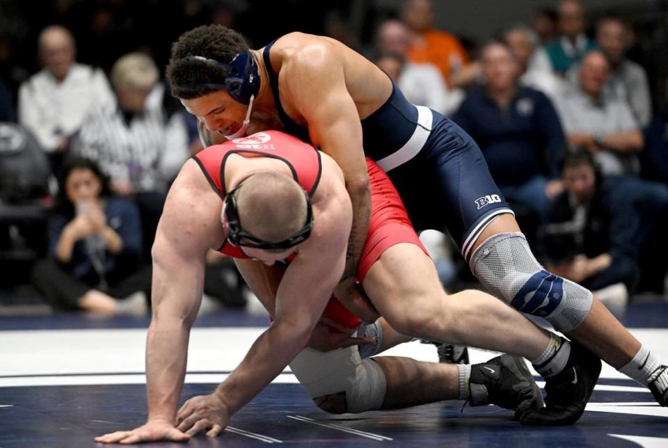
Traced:
<path fill-rule="evenodd" d="M 561 0 L 476 42 L 439 29 L 430 0 L 364 2 L 356 29 L 356 0 L 45 3 L 0 1 L 0 262 L 31 269 L 15 282 L 56 309 L 146 312 L 166 191 L 201 149 L 161 79 L 171 42 L 212 22 L 255 48 L 296 30 L 342 40 L 475 139 L 543 264 L 610 304 L 666 292 L 667 77 L 634 17 Z M 454 246 L 431 245 L 454 285 Z M 244 305 L 229 262 L 208 258 L 205 293 Z"/>

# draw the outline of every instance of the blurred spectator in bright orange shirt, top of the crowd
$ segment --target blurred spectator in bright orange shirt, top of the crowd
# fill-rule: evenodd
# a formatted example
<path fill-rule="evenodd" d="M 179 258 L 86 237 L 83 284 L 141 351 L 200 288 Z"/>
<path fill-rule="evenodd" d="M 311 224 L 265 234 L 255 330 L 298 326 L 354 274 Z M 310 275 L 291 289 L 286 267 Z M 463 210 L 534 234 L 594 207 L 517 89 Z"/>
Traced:
<path fill-rule="evenodd" d="M 454 35 L 433 28 L 431 0 L 407 0 L 402 18 L 411 29 L 408 61 L 436 65 L 450 88 L 466 87 L 475 82 L 479 66 L 469 63 L 461 42 Z"/>

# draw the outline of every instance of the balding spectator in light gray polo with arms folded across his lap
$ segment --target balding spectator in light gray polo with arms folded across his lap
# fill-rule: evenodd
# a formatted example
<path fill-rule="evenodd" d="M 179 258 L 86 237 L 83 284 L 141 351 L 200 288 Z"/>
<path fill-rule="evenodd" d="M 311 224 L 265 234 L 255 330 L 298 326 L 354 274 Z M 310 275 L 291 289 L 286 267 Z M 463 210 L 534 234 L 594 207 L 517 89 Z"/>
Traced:
<path fill-rule="evenodd" d="M 587 147 L 606 175 L 637 175 L 643 136 L 628 103 L 605 95 L 610 66 L 601 51 L 582 58 L 578 86 L 557 102 L 568 143 Z"/>

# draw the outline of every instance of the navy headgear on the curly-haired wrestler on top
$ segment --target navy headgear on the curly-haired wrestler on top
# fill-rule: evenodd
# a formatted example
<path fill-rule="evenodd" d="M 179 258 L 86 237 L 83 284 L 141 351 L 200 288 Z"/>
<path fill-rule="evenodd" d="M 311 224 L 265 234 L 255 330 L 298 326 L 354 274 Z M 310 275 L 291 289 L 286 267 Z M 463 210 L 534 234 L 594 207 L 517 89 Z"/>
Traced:
<path fill-rule="evenodd" d="M 249 104 L 254 95 L 260 90 L 260 73 L 257 64 L 250 53 L 239 53 L 232 58 L 230 63 L 222 63 L 204 56 L 186 56 L 186 61 L 200 61 L 212 67 L 223 70 L 225 80 L 223 83 L 188 83 L 181 88 L 211 88 L 214 90 L 225 90 L 235 101 Z"/>

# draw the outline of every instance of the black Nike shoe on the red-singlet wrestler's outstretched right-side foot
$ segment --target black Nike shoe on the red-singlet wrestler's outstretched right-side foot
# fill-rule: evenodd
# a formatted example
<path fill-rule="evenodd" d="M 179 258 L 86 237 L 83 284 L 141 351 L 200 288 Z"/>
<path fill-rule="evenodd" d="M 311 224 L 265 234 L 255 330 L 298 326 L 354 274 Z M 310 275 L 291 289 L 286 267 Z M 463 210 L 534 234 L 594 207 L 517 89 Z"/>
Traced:
<path fill-rule="evenodd" d="M 601 360 L 584 347 L 571 342 L 571 355 L 566 367 L 546 378 L 545 408 L 528 410 L 520 415 L 527 425 L 560 426 L 573 424 L 584 413 L 594 385 L 601 374 Z"/>

